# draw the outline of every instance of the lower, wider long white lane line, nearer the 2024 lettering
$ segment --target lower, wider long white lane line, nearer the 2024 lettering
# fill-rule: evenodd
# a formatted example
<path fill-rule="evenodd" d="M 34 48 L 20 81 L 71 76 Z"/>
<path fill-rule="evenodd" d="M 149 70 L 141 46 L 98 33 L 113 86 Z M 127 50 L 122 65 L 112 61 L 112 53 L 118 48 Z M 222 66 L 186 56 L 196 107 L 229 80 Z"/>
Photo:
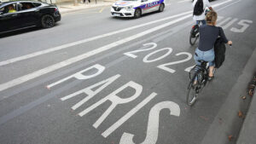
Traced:
<path fill-rule="evenodd" d="M 232 1 L 232 0 L 226 1 L 224 3 L 227 3 L 227 2 L 230 2 L 230 1 Z M 191 13 L 191 11 L 189 11 L 189 13 Z M 163 25 L 160 25 L 160 26 L 155 26 L 154 28 L 149 29 L 148 31 L 138 33 L 138 34 L 136 34 L 134 36 L 131 36 L 131 37 L 126 37 L 125 39 L 121 39 L 121 40 L 119 40 L 117 42 L 114 42 L 114 43 L 110 43 L 110 44 L 108 44 L 106 46 L 103 46 L 101 48 L 91 50 L 91 51 L 89 51 L 87 53 L 84 53 L 82 55 L 78 55 L 78 56 L 75 56 L 75 57 L 70 58 L 68 60 L 61 61 L 61 62 L 59 62 L 59 63 L 57 63 L 55 65 L 45 67 L 44 69 L 38 70 L 36 72 L 32 72 L 32 73 L 27 74 L 25 76 L 22 76 L 20 78 L 15 78 L 15 79 L 7 82 L 7 83 L 0 84 L 0 91 L 3 91 L 4 89 L 9 89 L 9 88 L 14 87 L 14 86 L 16 86 L 18 84 L 25 83 L 25 82 L 33 79 L 33 78 L 38 78 L 38 77 L 40 77 L 40 76 L 42 76 L 42 75 L 44 75 L 46 73 L 53 72 L 53 71 L 55 71 L 57 69 L 60 69 L 60 68 L 62 68 L 64 66 L 71 65 L 74 62 L 77 62 L 79 60 L 84 60 L 84 59 L 86 59 L 86 58 L 88 58 L 88 57 L 90 57 L 92 55 L 96 55 L 96 54 L 99 54 L 99 53 L 101 53 L 103 51 L 106 51 L 108 49 L 112 49 L 113 47 L 116 47 L 116 46 L 118 46 L 120 44 L 129 42 L 129 41 L 131 41 L 133 39 L 136 39 L 138 37 L 143 37 L 143 36 L 147 35 L 148 33 L 158 31 L 158 30 L 160 30 L 160 29 L 162 29 L 162 28 L 164 28 L 166 26 L 171 26 L 172 24 L 175 24 L 175 23 L 177 23 L 177 22 L 179 22 L 181 20 L 185 20 L 185 19 L 187 19 L 189 17 L 191 17 L 191 14 L 185 15 L 185 16 L 183 16 L 181 18 L 178 18 L 177 20 L 172 20 L 170 22 L 167 22 L 166 24 L 163 24 Z"/>

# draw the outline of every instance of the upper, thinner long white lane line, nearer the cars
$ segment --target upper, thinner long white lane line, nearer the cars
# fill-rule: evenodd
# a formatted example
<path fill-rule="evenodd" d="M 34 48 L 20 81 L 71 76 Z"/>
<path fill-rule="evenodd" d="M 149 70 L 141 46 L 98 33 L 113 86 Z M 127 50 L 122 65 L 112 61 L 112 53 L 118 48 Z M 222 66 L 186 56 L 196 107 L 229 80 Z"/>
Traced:
<path fill-rule="evenodd" d="M 20 56 L 20 57 L 16 57 L 16 58 L 13 58 L 13 59 L 3 60 L 3 61 L 0 62 L 0 66 L 9 65 L 9 64 L 11 64 L 11 63 L 14 63 L 14 62 L 17 62 L 17 61 L 20 61 L 20 60 L 30 59 L 30 58 L 35 57 L 35 56 L 38 56 L 38 55 L 44 55 L 44 54 L 47 54 L 47 53 L 50 53 L 50 52 L 54 52 L 54 51 L 56 51 L 56 50 L 66 49 L 66 48 L 68 48 L 68 47 L 72 47 L 72 46 L 75 46 L 75 45 L 79 45 L 79 44 L 81 44 L 81 43 L 87 43 L 87 42 L 90 42 L 90 41 L 93 41 L 93 40 L 96 40 L 96 39 L 99 39 L 99 38 L 102 38 L 102 37 L 108 37 L 108 36 L 112 36 L 112 35 L 114 35 L 114 34 L 118 34 L 118 33 L 121 33 L 121 32 L 131 31 L 131 30 L 133 30 L 133 29 L 136 29 L 136 28 L 139 28 L 139 27 L 142 27 L 142 26 L 148 26 L 148 25 L 151 25 L 151 24 L 154 24 L 154 23 L 163 21 L 163 20 L 173 19 L 173 18 L 176 18 L 176 17 L 178 17 L 178 16 L 182 16 L 182 15 L 184 15 L 184 14 L 189 14 L 189 13 L 191 13 L 191 11 L 189 11 L 189 12 L 184 12 L 184 13 L 182 13 L 182 14 L 172 15 L 172 16 L 169 16 L 169 17 L 160 19 L 160 20 L 154 20 L 154 21 L 151 21 L 151 22 L 142 24 L 142 25 L 131 26 L 131 27 L 125 28 L 125 29 L 123 29 L 123 30 L 105 33 L 105 34 L 102 34 L 102 35 L 100 35 L 100 36 L 86 38 L 86 39 L 83 39 L 83 40 L 80 40 L 80 41 L 76 41 L 76 42 L 73 42 L 73 43 L 63 44 L 63 45 L 61 45 L 61 46 L 57 46 L 57 47 L 50 48 L 50 49 L 45 49 L 45 50 L 38 51 L 38 52 L 29 54 L 29 55 L 22 55 L 22 56 Z"/>

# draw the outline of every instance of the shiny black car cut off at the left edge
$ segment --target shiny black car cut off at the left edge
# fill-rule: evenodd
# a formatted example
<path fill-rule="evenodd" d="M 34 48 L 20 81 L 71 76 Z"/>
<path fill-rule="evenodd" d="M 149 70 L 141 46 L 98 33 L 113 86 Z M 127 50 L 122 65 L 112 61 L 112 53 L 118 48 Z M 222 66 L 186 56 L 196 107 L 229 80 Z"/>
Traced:
<path fill-rule="evenodd" d="M 52 4 L 31 1 L 0 3 L 0 33 L 32 26 L 49 28 L 60 20 L 59 9 Z"/>

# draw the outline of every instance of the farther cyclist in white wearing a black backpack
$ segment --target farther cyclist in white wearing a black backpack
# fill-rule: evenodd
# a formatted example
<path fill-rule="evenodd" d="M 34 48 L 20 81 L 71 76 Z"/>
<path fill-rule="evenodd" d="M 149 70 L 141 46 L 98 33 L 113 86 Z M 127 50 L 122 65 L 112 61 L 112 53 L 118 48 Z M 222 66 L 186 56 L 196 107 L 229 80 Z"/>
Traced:
<path fill-rule="evenodd" d="M 196 25 L 199 25 L 200 21 L 203 25 L 207 24 L 205 20 L 205 10 L 207 9 L 207 7 L 211 11 L 213 10 L 208 0 L 195 0 L 193 2 L 193 20 L 196 21 Z"/>

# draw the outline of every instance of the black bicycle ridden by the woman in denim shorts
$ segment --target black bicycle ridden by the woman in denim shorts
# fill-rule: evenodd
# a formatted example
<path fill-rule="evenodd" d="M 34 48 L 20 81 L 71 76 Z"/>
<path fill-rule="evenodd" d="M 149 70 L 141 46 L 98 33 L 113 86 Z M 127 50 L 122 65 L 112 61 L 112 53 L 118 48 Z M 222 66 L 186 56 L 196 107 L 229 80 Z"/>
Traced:
<path fill-rule="evenodd" d="M 207 84 L 209 66 L 207 66 L 207 61 L 199 60 L 201 65 L 195 65 L 189 72 L 189 86 L 187 91 L 187 104 L 192 106 L 195 103 L 197 95 L 201 92 Z M 213 74 L 215 68 L 213 70 Z"/>

